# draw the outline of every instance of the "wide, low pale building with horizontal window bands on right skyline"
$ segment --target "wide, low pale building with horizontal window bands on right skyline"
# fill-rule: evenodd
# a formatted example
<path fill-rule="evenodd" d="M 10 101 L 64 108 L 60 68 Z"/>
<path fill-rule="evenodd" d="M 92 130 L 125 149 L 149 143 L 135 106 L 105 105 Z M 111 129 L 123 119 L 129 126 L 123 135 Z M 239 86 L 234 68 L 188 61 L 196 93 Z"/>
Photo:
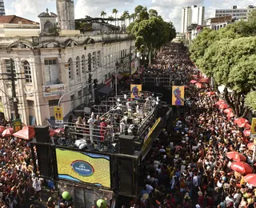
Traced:
<path fill-rule="evenodd" d="M 246 8 L 238 8 L 238 6 L 232 6 L 230 9 L 218 9 L 215 10 L 215 17 L 232 16 L 235 19 L 246 19 L 248 14 L 255 9 L 255 6 L 247 6 Z"/>

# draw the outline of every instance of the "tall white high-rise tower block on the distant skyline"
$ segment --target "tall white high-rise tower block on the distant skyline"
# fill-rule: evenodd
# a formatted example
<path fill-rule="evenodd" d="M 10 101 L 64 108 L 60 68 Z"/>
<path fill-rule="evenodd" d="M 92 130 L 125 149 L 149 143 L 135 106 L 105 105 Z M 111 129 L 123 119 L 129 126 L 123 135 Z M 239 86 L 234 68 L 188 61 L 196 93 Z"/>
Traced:
<path fill-rule="evenodd" d="M 194 5 L 194 6 L 183 7 L 181 33 L 186 33 L 188 26 L 190 26 L 191 24 L 202 26 L 204 18 L 205 18 L 204 6 Z"/>

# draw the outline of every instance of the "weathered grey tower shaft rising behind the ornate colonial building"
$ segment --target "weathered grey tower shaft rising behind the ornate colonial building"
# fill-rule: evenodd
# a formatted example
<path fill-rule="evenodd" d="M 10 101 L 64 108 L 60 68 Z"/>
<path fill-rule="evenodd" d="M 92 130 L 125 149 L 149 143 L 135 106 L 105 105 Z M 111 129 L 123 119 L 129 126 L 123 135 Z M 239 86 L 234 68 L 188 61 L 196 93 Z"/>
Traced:
<path fill-rule="evenodd" d="M 57 0 L 56 7 L 61 30 L 74 30 L 74 1 Z"/>

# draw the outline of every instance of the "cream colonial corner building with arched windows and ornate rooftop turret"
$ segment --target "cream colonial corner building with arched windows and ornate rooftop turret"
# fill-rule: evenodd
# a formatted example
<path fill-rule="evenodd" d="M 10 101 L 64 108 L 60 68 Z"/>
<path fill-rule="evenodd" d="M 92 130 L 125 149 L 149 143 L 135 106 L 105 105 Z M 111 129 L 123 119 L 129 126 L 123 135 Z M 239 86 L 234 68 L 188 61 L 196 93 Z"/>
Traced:
<path fill-rule="evenodd" d="M 10 73 L 13 60 L 18 113 L 26 125 L 47 125 L 63 94 L 60 106 L 64 116 L 69 114 L 89 101 L 95 81 L 109 84 L 115 70 L 129 70 L 130 55 L 134 59 L 134 38 L 128 34 L 87 36 L 77 30 L 62 30 L 51 36 L 49 29 L 57 15 L 46 11 L 38 17 L 43 24 L 37 36 L 0 38 L 0 102 L 6 119 L 12 119 L 11 85 L 6 80 L 10 75 L 6 73 Z"/>

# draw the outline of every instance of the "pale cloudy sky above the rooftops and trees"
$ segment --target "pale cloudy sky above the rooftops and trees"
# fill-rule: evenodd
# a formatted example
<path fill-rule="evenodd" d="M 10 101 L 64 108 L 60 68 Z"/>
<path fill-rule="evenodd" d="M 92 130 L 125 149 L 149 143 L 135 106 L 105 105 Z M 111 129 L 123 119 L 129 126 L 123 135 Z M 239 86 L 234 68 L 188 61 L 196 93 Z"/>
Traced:
<path fill-rule="evenodd" d="M 38 14 L 49 9 L 56 13 L 56 0 L 4 0 L 6 15 L 15 14 L 22 18 L 28 18 L 38 22 Z M 155 9 L 165 21 L 171 21 L 178 32 L 181 28 L 182 6 L 206 6 L 206 17 L 214 17 L 214 9 L 230 8 L 238 6 L 244 8 L 249 5 L 256 6 L 255 0 L 74 0 L 75 18 L 84 18 L 86 15 L 96 18 L 100 17 L 102 10 L 106 17 L 113 15 L 112 10 L 117 9 L 117 17 L 124 10 L 134 13 L 138 5 L 146 6 L 148 10 Z"/>

